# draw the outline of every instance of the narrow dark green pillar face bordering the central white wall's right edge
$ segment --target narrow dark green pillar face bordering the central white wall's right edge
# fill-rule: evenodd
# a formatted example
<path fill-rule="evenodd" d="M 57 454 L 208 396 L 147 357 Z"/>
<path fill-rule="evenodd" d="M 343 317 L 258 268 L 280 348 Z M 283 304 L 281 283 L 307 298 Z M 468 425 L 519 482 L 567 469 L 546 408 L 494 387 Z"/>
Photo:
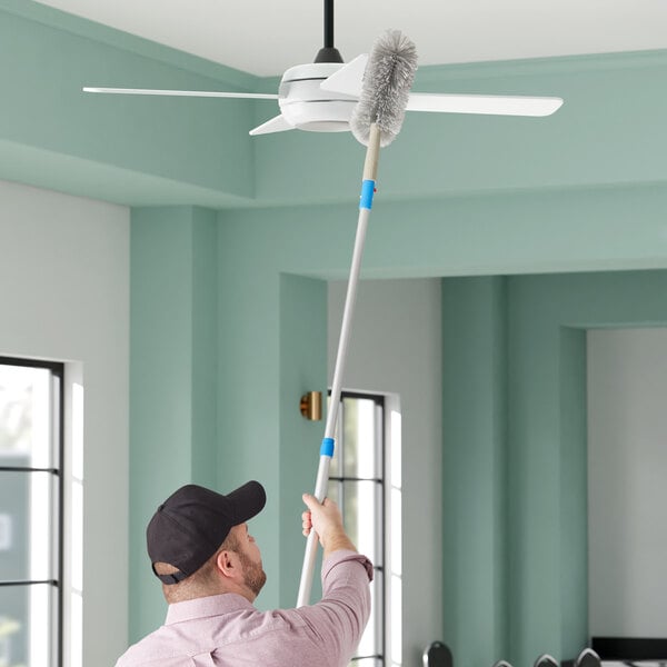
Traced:
<path fill-rule="evenodd" d="M 442 280 L 442 614 L 457 664 L 509 655 L 507 289 Z"/>

